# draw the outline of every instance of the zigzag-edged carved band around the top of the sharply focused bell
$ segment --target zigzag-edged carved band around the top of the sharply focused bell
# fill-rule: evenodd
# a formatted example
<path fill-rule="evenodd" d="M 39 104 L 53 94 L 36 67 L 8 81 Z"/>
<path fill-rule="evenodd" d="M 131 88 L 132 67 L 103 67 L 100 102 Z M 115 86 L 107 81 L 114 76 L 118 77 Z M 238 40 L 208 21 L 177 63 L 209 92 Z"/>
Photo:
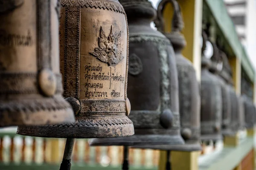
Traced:
<path fill-rule="evenodd" d="M 125 10 L 120 3 L 111 2 L 108 0 L 60 0 L 62 6 L 67 7 L 85 7 L 85 8 L 99 8 L 99 9 L 107 9 L 115 12 L 119 12 L 121 14 L 125 14 Z"/>

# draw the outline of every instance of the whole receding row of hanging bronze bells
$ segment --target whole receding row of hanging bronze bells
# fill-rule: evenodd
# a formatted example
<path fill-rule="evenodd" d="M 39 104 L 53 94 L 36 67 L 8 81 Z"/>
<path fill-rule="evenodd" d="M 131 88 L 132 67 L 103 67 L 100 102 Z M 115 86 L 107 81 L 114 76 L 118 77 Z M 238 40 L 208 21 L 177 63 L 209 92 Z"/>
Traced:
<path fill-rule="evenodd" d="M 227 56 L 204 31 L 199 88 L 181 54 L 186 40 L 176 0 L 162 0 L 157 11 L 148 0 L 4 2 L 0 127 L 18 125 L 26 136 L 102 138 L 90 140 L 93 146 L 191 151 L 201 150 L 200 140 L 236 133 L 244 119 L 255 124 L 255 106 L 236 95 Z M 167 3 L 174 7 L 171 33 L 163 30 Z"/>

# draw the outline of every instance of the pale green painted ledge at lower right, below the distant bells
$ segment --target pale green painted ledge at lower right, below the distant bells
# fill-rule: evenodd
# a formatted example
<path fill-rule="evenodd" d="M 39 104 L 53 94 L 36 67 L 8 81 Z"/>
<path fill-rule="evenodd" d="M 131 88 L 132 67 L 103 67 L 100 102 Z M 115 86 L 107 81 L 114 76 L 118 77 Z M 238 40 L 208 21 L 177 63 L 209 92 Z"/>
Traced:
<path fill-rule="evenodd" d="M 224 147 L 215 153 L 207 162 L 199 164 L 199 170 L 233 170 L 253 149 L 253 138 L 247 139 L 237 147 Z"/>

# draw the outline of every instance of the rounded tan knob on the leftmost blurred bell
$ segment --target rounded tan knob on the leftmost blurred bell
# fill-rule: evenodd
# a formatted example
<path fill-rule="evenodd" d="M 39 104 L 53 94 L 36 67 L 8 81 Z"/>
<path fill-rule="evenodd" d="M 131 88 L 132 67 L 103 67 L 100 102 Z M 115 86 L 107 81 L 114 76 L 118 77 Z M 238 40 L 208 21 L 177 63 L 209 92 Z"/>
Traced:
<path fill-rule="evenodd" d="M 43 69 L 39 72 L 38 83 L 45 96 L 53 96 L 56 91 L 56 77 L 49 69 Z"/>

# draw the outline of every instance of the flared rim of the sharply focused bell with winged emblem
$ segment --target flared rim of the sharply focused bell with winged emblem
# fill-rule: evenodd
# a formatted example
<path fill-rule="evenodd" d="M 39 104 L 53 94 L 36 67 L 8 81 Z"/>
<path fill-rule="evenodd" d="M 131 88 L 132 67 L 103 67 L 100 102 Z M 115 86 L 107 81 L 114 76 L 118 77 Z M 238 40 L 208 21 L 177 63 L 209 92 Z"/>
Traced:
<path fill-rule="evenodd" d="M 127 116 L 104 119 L 77 119 L 75 123 L 45 126 L 19 126 L 17 134 L 50 138 L 111 138 L 134 135 Z"/>

